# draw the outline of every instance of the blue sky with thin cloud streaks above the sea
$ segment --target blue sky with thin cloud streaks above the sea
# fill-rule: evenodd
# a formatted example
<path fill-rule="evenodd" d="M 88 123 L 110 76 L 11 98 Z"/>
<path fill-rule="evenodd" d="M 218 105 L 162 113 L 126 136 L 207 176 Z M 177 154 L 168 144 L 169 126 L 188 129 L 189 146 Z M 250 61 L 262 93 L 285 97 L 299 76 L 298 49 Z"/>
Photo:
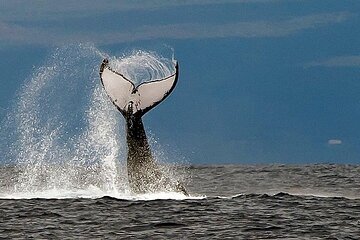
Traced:
<path fill-rule="evenodd" d="M 164 148 L 194 164 L 358 164 L 359 39 L 357 0 L 0 1 L 0 120 L 59 46 L 166 46 L 179 82 L 144 117 Z"/>

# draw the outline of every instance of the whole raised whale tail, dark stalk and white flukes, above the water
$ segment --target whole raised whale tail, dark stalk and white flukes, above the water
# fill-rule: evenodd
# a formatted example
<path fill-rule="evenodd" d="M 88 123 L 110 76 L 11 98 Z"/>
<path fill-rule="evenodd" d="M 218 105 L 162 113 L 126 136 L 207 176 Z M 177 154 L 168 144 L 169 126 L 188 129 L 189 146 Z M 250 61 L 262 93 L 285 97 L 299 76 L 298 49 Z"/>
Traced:
<path fill-rule="evenodd" d="M 160 165 L 152 155 L 142 121 L 144 114 L 161 103 L 174 90 L 178 82 L 178 63 L 175 63 L 174 74 L 139 85 L 135 85 L 123 74 L 112 69 L 108 59 L 102 61 L 99 74 L 106 94 L 125 119 L 126 165 L 131 192 L 138 194 L 170 189 L 188 195 L 180 182 L 172 182 L 161 171 Z"/>

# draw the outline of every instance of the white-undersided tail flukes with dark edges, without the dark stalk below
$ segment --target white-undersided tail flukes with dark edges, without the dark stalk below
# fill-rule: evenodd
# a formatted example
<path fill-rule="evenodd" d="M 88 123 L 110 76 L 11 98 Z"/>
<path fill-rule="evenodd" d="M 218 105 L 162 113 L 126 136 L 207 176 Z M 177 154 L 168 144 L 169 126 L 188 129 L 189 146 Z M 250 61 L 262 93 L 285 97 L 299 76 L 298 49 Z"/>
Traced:
<path fill-rule="evenodd" d="M 142 116 L 174 90 L 178 80 L 178 69 L 176 62 L 174 74 L 135 86 L 123 74 L 111 69 L 109 61 L 104 59 L 100 66 L 100 79 L 112 103 L 124 116 L 130 111 L 134 115 Z"/>

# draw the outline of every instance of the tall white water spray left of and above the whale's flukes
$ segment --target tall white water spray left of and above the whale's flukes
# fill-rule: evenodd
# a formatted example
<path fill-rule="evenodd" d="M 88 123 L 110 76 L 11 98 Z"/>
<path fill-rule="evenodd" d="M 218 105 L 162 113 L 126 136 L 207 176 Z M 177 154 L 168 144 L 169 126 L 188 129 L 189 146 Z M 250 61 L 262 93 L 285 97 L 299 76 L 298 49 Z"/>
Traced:
<path fill-rule="evenodd" d="M 0 149 L 18 172 L 14 196 L 129 194 L 124 122 L 99 83 L 103 58 L 137 83 L 174 71 L 173 59 L 153 52 L 115 58 L 91 44 L 56 49 L 22 86 L 0 129 Z"/>

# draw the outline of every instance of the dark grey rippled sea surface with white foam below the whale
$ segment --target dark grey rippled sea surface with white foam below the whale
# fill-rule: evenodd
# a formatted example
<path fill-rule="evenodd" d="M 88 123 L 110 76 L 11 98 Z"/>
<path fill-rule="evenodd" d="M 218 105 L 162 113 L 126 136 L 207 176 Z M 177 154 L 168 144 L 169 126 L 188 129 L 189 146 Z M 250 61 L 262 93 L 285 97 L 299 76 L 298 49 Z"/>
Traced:
<path fill-rule="evenodd" d="M 95 189 L 11 193 L 1 239 L 359 239 L 360 166 L 191 166 L 190 196 Z"/>

